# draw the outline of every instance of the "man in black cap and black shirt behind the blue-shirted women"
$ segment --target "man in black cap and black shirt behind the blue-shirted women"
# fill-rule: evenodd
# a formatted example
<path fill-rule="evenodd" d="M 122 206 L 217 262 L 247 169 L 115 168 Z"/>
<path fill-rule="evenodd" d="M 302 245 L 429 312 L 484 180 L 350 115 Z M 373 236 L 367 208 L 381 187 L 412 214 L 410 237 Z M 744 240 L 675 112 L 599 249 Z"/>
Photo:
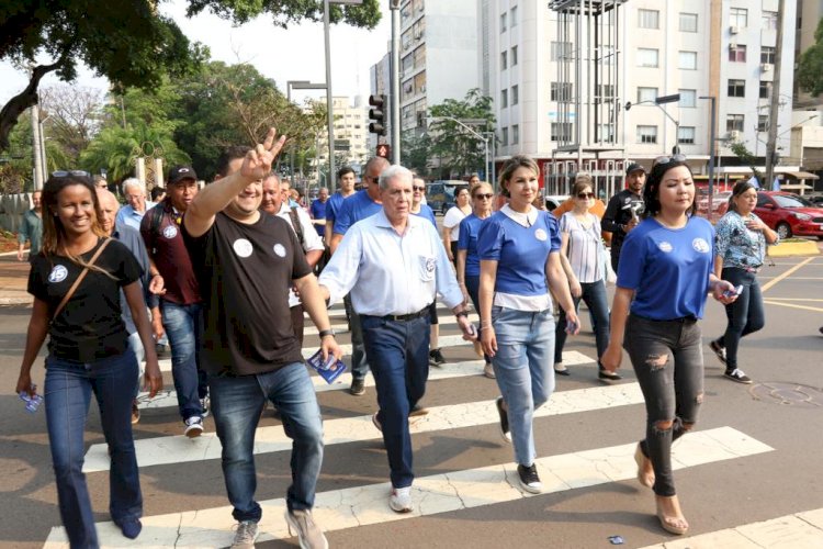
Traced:
<path fill-rule="evenodd" d="M 638 163 L 631 163 L 625 168 L 625 189 L 611 197 L 600 222 L 604 231 L 611 232 L 611 268 L 615 272 L 618 271 L 623 239 L 640 222 L 645 182 L 646 169 Z"/>

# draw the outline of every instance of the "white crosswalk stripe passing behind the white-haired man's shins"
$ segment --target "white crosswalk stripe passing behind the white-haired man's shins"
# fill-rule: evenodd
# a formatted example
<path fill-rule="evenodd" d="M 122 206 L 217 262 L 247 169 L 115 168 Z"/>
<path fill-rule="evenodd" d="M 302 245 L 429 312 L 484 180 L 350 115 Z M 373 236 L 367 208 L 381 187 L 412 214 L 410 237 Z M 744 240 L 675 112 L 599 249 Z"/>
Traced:
<path fill-rule="evenodd" d="M 560 391 L 552 395 L 548 404 L 534 411 L 534 417 L 573 414 L 642 402 L 643 394 L 638 383 Z M 493 400 L 467 402 L 429 408 L 427 415 L 412 419 L 410 432 L 412 434 L 429 433 L 491 425 L 498 422 L 497 407 Z M 326 446 L 381 438 L 380 432 L 372 425 L 370 415 L 325 421 L 323 433 Z M 187 438 L 182 435 L 143 438 L 135 440 L 134 446 L 140 468 L 219 459 L 222 449 L 214 433 L 204 433 L 196 438 Z M 255 453 L 291 451 L 291 449 L 292 440 L 285 436 L 282 426 L 258 427 L 255 437 Z M 106 471 L 110 464 L 108 446 L 105 444 L 92 445 L 86 453 L 83 472 Z"/>

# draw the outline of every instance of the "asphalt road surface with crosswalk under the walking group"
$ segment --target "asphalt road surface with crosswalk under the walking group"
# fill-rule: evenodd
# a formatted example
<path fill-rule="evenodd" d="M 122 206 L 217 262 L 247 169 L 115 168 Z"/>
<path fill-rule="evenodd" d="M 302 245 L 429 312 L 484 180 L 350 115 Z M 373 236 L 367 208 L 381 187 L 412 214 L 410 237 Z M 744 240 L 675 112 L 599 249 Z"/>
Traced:
<path fill-rule="evenodd" d="M 818 332 L 823 326 L 823 257 L 778 259 L 777 265 L 763 270 L 760 281 L 766 289 L 767 325 L 745 338 L 741 346 L 741 368 L 755 384 L 741 385 L 723 379 L 723 370 L 708 348 L 710 338 L 717 337 L 725 326 L 722 307 L 710 302 L 701 322 L 707 344 L 706 401 L 696 432 L 684 437 L 683 455 L 688 453 L 695 462 L 686 463 L 675 473 L 680 502 L 691 524 L 689 536 L 823 507 L 823 432 L 820 428 L 823 335 Z M 25 413 L 22 402 L 13 394 L 29 313 L 24 306 L 0 307 L 0 372 L 4 380 L 0 384 L 0 471 L 3 472 L 0 475 L 0 547 L 10 548 L 43 547 L 52 528 L 60 525 L 44 413 Z M 557 391 L 546 405 L 554 415 L 535 419 L 538 457 L 546 459 L 542 470 L 552 471 L 543 474 L 544 483 L 550 484 L 550 479 L 556 474 L 568 486 L 533 497 L 521 497 L 519 492 L 512 496 L 511 491 L 516 489 L 510 486 L 508 491 L 498 490 L 498 495 L 504 495 L 497 500 L 492 495 L 483 496 L 487 500 L 471 500 L 463 494 L 462 508 L 456 511 L 420 504 L 427 494 L 422 491 L 415 496 L 420 505 L 414 516 L 390 522 L 395 517 L 388 512 L 385 519 L 377 514 L 371 522 L 361 520 L 362 526 L 335 527 L 327 534 L 329 544 L 350 548 L 572 548 L 607 547 L 610 546 L 607 538 L 613 535 L 623 537 L 624 547 L 672 541 L 674 537 L 661 530 L 653 516 L 652 494 L 641 490 L 633 479 L 631 463 L 625 469 L 624 480 L 599 481 L 574 468 L 564 469 L 561 463 L 583 450 L 609 453 L 610 450 L 604 449 L 620 447 L 623 449 L 613 451 L 624 453 L 627 445 L 636 441 L 644 429 L 643 405 L 631 399 L 627 402 L 616 399 L 612 405 L 595 404 L 582 412 L 561 410 L 564 397 L 573 407 L 588 402 L 589 393 L 612 390 L 596 379 L 594 336 L 587 315 L 583 314 L 582 320 L 583 333 L 570 338 L 566 351 L 574 357 L 583 356 L 584 360 L 571 367 L 570 378 L 557 380 Z M 340 322 L 339 317 L 336 322 Z M 455 333 L 453 324 L 443 325 L 442 335 Z M 342 340 L 348 341 L 346 335 Z M 314 346 L 315 336 L 307 337 L 306 347 Z M 444 348 L 443 354 L 449 363 L 442 369 L 432 369 L 432 376 L 442 379 L 430 381 L 425 404 L 432 410 L 432 418 L 442 412 L 448 425 L 436 425 L 433 419 L 430 425 L 425 422 L 419 425 L 413 438 L 418 478 L 448 474 L 453 480 L 469 470 L 510 463 L 511 448 L 501 442 L 496 425 L 484 421 L 473 423 L 471 417 L 463 417 L 471 413 L 461 415 L 460 412 L 484 408 L 483 402 L 498 394 L 495 382 L 477 374 L 459 374 L 455 363 L 476 361 L 471 347 L 452 346 Z M 444 376 L 450 369 L 454 376 Z M 622 385 L 628 394 L 634 382 L 628 359 L 623 361 L 623 373 Z M 42 367 L 36 367 L 34 378 L 40 386 L 43 376 Z M 171 386 L 170 376 L 166 377 L 167 386 Z M 358 422 L 375 411 L 373 386 L 360 397 L 338 390 L 320 392 L 318 400 L 327 439 L 336 425 Z M 553 406 L 556 410 L 552 410 Z M 367 432 L 372 428 L 370 424 L 362 422 L 362 425 L 363 433 L 327 444 L 318 493 L 327 493 L 328 497 L 351 494 L 358 488 L 387 481 L 379 434 Z M 279 436 L 281 430 L 270 412 L 261 427 L 269 427 L 267 433 L 271 432 L 272 436 Z M 213 433 L 213 421 L 206 419 L 206 432 Z M 715 459 L 708 455 L 713 450 L 711 445 L 703 450 L 686 447 L 690 437 L 694 437 L 695 442 L 690 442 L 694 445 L 703 440 L 701 433 L 720 432 L 731 434 L 730 446 L 745 438 L 757 442 L 749 444 L 756 448 L 732 459 Z M 183 438 L 181 434 L 182 425 L 174 407 L 144 410 L 140 423 L 135 426 L 136 439 L 147 444 L 155 439 L 179 442 Z M 99 448 L 93 445 L 103 442 L 93 404 L 86 439 L 91 450 L 89 456 Z M 700 464 L 703 458 L 708 462 Z M 620 463 L 625 464 L 625 460 Z M 290 482 L 289 451 L 259 453 L 257 468 L 258 498 L 282 498 Z M 173 458 L 172 462 L 145 466 L 140 471 L 147 517 L 228 504 L 218 459 Z M 89 472 L 88 483 L 97 520 L 110 520 L 108 472 Z M 374 505 L 380 507 L 383 503 Z M 272 509 L 273 504 L 271 508 L 264 507 L 266 517 L 282 522 L 280 516 L 273 516 Z M 225 520 L 227 514 L 215 516 Z M 228 520 L 230 523 L 230 518 Z M 330 526 L 330 523 L 320 524 Z M 52 535 L 53 540 L 59 538 L 58 533 Z M 230 533 L 224 536 L 230 539 Z M 285 536 L 285 539 L 271 540 L 272 536 L 278 537 L 271 534 L 270 540 L 259 542 L 258 547 L 295 546 L 294 538 Z M 117 536 L 106 539 L 104 544 L 109 546 L 134 545 Z M 148 542 L 148 539 L 143 541 Z M 203 541 L 211 547 L 215 544 L 214 540 Z M 189 544 L 194 545 L 198 544 Z M 823 540 L 818 547 L 822 546 Z"/>

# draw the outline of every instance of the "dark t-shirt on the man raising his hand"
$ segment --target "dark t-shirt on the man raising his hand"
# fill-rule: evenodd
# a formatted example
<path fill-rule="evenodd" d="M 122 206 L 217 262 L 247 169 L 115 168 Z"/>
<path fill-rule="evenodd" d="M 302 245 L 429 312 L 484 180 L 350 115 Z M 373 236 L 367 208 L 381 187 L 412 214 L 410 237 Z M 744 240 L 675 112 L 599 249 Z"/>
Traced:
<path fill-rule="evenodd" d="M 249 376 L 303 361 L 289 288 L 312 268 L 289 224 L 262 212 L 250 225 L 218 213 L 202 236 L 181 227 L 204 301 L 203 368 Z"/>

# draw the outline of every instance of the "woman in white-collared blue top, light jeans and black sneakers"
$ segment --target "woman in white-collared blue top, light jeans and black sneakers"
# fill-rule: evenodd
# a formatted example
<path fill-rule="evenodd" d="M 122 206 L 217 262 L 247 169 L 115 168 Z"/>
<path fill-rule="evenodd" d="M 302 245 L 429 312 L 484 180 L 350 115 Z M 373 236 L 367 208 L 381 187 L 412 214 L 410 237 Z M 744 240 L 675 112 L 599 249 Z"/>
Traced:
<path fill-rule="evenodd" d="M 509 203 L 483 222 L 477 236 L 481 341 L 503 393 L 497 399 L 500 432 L 514 444 L 520 485 L 531 493 L 542 491 L 532 417 L 554 391 L 550 285 L 570 323 L 578 325 L 560 261 L 557 220 L 531 205 L 538 173 L 531 158 L 506 163 L 500 188 Z"/>

